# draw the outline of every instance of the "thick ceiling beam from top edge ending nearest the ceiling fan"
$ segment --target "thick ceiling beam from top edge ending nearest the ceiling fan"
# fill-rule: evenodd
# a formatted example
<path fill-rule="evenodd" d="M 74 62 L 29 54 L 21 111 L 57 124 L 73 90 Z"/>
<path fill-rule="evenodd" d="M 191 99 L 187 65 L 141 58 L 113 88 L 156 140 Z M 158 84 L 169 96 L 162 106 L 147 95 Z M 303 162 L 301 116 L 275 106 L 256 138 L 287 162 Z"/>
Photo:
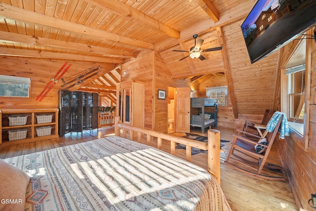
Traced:
<path fill-rule="evenodd" d="M 119 0 L 86 0 L 89 3 L 96 4 L 105 10 L 111 11 L 121 17 L 135 21 L 143 26 L 149 27 L 171 38 L 179 39 L 180 32 L 167 26 L 166 24 L 138 11 L 137 9 L 126 5 Z"/>

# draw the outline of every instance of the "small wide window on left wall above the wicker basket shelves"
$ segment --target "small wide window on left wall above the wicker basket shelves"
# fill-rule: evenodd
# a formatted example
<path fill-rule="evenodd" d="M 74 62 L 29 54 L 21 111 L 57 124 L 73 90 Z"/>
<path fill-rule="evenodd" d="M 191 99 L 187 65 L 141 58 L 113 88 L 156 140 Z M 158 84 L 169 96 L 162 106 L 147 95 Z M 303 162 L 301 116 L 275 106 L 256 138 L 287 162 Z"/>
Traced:
<path fill-rule="evenodd" d="M 29 97 L 31 79 L 0 75 L 0 96 Z"/>

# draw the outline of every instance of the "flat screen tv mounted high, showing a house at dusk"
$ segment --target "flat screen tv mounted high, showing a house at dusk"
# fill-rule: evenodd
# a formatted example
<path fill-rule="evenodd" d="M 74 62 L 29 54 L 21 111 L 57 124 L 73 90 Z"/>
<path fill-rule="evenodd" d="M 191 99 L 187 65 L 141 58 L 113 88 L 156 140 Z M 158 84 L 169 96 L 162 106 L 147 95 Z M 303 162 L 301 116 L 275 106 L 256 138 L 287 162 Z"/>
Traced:
<path fill-rule="evenodd" d="M 251 63 L 316 24 L 316 0 L 258 0 L 241 25 Z"/>

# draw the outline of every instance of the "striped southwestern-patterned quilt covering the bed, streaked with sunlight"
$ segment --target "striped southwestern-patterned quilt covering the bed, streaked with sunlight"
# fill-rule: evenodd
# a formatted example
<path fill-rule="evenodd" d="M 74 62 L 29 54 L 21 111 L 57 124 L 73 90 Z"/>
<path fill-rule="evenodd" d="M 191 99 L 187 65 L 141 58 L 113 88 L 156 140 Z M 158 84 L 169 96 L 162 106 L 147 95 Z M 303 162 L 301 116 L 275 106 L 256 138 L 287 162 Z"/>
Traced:
<path fill-rule="evenodd" d="M 26 211 L 229 211 L 206 170 L 118 136 L 4 159 L 30 175 Z"/>

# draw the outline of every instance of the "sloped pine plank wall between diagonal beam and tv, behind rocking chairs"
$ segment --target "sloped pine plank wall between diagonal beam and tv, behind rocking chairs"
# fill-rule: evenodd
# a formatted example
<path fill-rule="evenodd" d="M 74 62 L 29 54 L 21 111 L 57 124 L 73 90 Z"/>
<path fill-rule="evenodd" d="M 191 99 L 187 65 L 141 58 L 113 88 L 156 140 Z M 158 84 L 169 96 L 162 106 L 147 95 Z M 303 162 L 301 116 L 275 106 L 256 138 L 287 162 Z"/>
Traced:
<path fill-rule="evenodd" d="M 261 115 L 266 109 L 273 108 L 278 53 L 250 64 L 240 30 L 241 23 L 239 20 L 222 27 L 236 105 L 239 114 Z"/>

